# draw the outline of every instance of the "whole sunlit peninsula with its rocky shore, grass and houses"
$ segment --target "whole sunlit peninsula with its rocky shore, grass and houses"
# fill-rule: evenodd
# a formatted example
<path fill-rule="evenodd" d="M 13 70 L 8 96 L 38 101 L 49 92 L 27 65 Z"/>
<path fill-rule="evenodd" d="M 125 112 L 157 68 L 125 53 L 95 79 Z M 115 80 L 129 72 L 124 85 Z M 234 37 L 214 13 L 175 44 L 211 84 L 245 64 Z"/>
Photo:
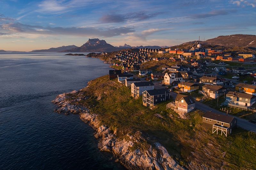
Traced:
<path fill-rule="evenodd" d="M 199 43 L 194 43 L 194 46 L 198 47 L 197 50 L 205 50 Z M 224 60 L 227 52 L 211 51 L 223 56 L 218 59 L 220 62 L 209 57 L 209 50 L 207 53 L 197 51 L 196 55 L 186 55 L 188 52 L 185 50 L 146 48 L 91 53 L 93 57 L 113 63 L 111 67 L 120 70 L 110 71 L 109 75 L 90 81 L 87 87 L 79 91 L 58 95 L 52 101 L 58 106 L 55 111 L 78 114 L 96 131 L 94 136 L 99 140 L 100 151 L 111 152 L 116 161 L 127 169 L 255 169 L 255 126 L 248 121 L 254 119 L 253 106 L 246 107 L 247 111 L 238 112 L 238 107 L 245 107 L 237 104 L 237 108 L 231 112 L 229 105 L 225 104 L 230 92 L 219 92 L 218 99 L 207 92 L 211 85 L 204 82 L 204 74 L 211 74 L 212 69 L 220 69 L 215 64 L 227 62 Z M 229 64 L 236 63 L 229 61 Z M 196 82 L 197 78 L 200 83 Z M 209 80 L 218 80 L 215 86 L 217 90 L 234 88 L 228 79 L 221 78 L 216 76 Z M 154 90 L 147 90 L 147 84 Z M 140 86 L 146 90 L 140 90 Z M 137 90 L 141 93 L 135 94 Z M 164 96 L 170 93 L 170 99 L 161 98 L 162 93 L 159 92 L 162 91 Z M 211 91 L 214 91 L 213 88 Z M 147 104 L 151 101 L 147 99 L 147 93 L 155 95 L 157 101 L 152 100 Z M 254 98 L 254 95 L 243 96 L 248 97 L 247 100 Z M 181 100 L 187 104 L 177 104 Z M 226 131 L 222 129 L 220 135 L 220 131 L 219 134 L 216 131 L 213 133 L 214 126 L 211 125 L 209 129 L 209 126 L 205 126 L 208 122 L 202 120 L 211 119 L 209 116 L 212 114 L 220 117 L 226 115 L 223 107 L 225 111 L 229 110 L 228 119 L 235 121 L 234 125 L 237 123 L 238 127 L 232 126 L 232 133 L 231 126 Z M 212 112 L 207 112 L 207 115 L 205 112 L 209 110 Z"/>

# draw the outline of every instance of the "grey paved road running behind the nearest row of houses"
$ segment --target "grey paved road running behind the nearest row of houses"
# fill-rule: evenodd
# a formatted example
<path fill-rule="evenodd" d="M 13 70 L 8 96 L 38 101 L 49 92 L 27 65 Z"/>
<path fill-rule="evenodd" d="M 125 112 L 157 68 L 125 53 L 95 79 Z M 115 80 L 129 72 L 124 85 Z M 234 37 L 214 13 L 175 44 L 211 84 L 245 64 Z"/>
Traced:
<path fill-rule="evenodd" d="M 175 99 L 177 96 L 177 93 L 171 92 L 171 96 L 173 97 L 173 99 Z M 205 105 L 204 103 L 200 103 L 198 101 L 196 101 L 196 108 L 202 110 L 203 112 L 213 111 L 215 113 L 225 115 L 225 113 L 215 110 L 212 107 Z M 234 116 L 234 117 L 236 117 L 236 116 Z M 242 119 L 239 117 L 236 117 L 236 118 L 237 118 L 237 126 L 256 133 L 256 124 L 251 123 L 248 120 L 245 120 L 245 119 Z"/>

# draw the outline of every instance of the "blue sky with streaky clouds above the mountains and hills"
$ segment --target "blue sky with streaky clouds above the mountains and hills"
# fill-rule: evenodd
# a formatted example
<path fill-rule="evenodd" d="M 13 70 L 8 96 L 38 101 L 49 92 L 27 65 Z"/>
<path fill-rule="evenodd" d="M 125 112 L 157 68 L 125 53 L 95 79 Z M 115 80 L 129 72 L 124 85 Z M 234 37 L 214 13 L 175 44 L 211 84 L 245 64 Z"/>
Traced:
<path fill-rule="evenodd" d="M 256 34 L 256 0 L 0 0 L 0 49 L 31 51 L 99 38 L 173 46 Z"/>

